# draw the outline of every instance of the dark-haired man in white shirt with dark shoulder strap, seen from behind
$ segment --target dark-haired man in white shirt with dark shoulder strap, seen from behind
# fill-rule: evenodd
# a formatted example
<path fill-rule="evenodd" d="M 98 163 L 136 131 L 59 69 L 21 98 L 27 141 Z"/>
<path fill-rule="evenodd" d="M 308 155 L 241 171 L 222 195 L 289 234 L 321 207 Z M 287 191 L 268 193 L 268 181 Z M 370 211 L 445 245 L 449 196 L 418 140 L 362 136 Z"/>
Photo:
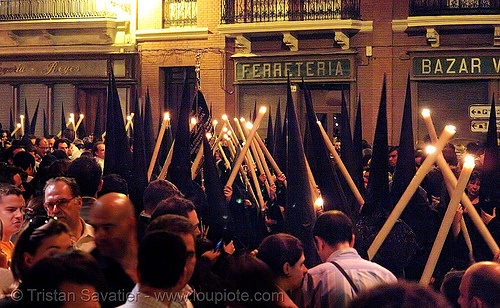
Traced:
<path fill-rule="evenodd" d="M 328 211 L 320 215 L 313 235 L 324 263 L 306 274 L 302 289 L 294 296 L 299 306 L 347 307 L 358 292 L 397 281 L 389 270 L 359 256 L 353 248 L 352 221 L 344 213 Z"/>

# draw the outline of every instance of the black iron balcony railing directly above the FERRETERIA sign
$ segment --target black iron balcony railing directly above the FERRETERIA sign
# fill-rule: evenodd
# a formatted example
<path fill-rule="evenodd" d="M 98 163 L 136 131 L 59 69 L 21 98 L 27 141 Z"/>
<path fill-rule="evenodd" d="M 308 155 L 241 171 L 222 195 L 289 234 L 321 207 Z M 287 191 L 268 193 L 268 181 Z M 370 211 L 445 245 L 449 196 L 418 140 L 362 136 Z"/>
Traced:
<path fill-rule="evenodd" d="M 359 0 L 223 0 L 222 23 L 361 19 Z"/>

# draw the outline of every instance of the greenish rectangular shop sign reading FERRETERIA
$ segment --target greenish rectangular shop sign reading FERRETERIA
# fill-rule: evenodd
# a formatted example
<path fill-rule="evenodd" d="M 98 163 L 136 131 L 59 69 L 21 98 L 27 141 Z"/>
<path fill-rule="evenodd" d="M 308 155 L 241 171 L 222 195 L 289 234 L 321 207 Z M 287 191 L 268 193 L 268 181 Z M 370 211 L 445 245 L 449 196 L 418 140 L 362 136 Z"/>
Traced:
<path fill-rule="evenodd" d="M 352 78 L 351 61 L 303 60 L 303 61 L 252 61 L 236 62 L 236 81 L 273 81 L 291 78 Z"/>

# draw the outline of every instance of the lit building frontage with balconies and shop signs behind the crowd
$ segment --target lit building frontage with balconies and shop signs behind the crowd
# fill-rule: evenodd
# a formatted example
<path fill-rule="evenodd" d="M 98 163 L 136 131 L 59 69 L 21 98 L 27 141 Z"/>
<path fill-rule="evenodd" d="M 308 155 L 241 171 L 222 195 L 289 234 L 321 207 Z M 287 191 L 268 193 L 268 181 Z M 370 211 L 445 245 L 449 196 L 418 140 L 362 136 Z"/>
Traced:
<path fill-rule="evenodd" d="M 78 104 L 92 128 L 92 110 L 104 103 L 109 63 L 117 72 L 124 116 L 136 93 L 143 99 L 147 89 L 154 117 L 167 109 L 175 114 L 187 76 L 193 85 L 199 78 L 215 118 L 247 118 L 255 105 L 266 105 L 274 119 L 279 101 L 284 113 L 290 71 L 299 117 L 305 112 L 302 79 L 332 137 L 342 93 L 351 123 L 361 97 L 369 142 L 385 74 L 391 144 L 398 142 L 408 76 L 416 140 L 426 134 L 419 119 L 424 107 L 438 130 L 457 126 L 455 143 L 482 140 L 485 105 L 499 92 L 496 0 L 122 0 L 39 14 L 23 12 L 15 6 L 21 2 L 9 2 L 17 11 L 0 11 L 4 126 L 10 110 L 18 117 L 25 101 L 33 110 L 40 100 L 53 133 L 63 105 L 69 113 Z M 19 70 L 54 61 L 80 67 L 79 73 Z"/>

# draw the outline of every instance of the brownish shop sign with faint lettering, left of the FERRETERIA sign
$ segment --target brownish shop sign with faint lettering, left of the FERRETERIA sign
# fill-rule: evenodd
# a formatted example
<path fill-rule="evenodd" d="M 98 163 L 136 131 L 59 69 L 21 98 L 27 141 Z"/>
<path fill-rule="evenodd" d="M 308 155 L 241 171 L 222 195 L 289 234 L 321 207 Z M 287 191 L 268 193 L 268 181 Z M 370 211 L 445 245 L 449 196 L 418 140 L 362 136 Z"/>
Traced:
<path fill-rule="evenodd" d="M 0 78 L 103 76 L 106 76 L 106 60 L 0 62 Z"/>

